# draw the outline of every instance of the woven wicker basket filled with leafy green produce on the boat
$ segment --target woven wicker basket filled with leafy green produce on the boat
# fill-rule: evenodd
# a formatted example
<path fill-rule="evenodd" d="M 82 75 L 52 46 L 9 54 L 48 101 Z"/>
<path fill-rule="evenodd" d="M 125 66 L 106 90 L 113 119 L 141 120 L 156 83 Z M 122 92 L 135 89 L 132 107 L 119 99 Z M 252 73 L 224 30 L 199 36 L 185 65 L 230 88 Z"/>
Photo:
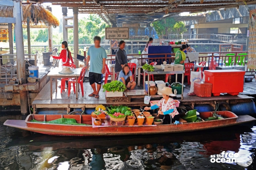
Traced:
<path fill-rule="evenodd" d="M 133 113 L 130 111 L 131 108 L 127 106 L 110 106 L 107 107 L 107 113 L 110 117 L 111 125 L 115 122 L 115 126 L 125 124 L 126 116 L 132 116 Z M 118 123 L 119 122 L 119 123 Z"/>

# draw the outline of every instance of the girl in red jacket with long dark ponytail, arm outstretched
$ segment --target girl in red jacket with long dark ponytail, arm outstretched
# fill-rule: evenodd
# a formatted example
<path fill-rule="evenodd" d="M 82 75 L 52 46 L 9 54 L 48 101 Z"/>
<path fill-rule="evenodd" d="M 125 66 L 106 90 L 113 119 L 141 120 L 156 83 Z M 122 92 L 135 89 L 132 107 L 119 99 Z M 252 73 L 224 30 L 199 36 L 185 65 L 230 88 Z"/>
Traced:
<path fill-rule="evenodd" d="M 68 43 L 66 41 L 63 41 L 61 43 L 61 48 L 63 48 L 63 50 L 61 50 L 60 56 L 54 56 L 54 55 L 50 55 L 50 56 L 53 57 L 54 59 L 59 59 L 59 60 L 61 59 L 61 66 L 66 63 L 70 63 L 70 61 L 71 63 L 74 64 L 74 61 L 71 56 L 71 52 L 68 49 Z"/>

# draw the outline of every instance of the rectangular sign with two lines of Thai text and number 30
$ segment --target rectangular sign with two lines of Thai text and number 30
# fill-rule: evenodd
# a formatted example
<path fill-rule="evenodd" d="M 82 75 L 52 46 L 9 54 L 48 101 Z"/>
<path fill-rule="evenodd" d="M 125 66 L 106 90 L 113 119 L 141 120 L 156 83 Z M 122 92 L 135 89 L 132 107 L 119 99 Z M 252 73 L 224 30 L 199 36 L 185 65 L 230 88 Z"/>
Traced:
<path fill-rule="evenodd" d="M 105 28 L 105 39 L 129 39 L 129 27 Z"/>

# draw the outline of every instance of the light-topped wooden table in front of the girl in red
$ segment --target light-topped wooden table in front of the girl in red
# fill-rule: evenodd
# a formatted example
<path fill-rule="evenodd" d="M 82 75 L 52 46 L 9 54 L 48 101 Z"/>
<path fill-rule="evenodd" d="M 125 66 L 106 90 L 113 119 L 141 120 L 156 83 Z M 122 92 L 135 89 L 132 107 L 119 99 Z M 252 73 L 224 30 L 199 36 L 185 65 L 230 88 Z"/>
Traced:
<path fill-rule="evenodd" d="M 76 78 L 76 99 L 78 99 L 78 83 L 77 79 L 80 76 L 81 73 L 81 68 L 75 68 L 71 69 L 74 73 L 72 74 L 60 74 L 60 69 L 59 68 L 53 68 L 47 76 L 50 77 L 50 95 L 51 95 L 51 100 L 52 100 L 52 79 L 55 78 L 55 85 L 56 85 L 56 93 L 58 89 L 58 84 L 57 84 L 57 78 Z"/>

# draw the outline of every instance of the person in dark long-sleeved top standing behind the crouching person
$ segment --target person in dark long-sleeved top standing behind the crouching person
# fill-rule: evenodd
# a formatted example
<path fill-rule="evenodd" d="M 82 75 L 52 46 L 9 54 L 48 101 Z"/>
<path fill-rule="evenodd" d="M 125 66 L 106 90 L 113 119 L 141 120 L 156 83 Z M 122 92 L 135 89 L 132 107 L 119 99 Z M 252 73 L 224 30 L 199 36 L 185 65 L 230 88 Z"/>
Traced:
<path fill-rule="evenodd" d="M 120 41 L 119 49 L 115 53 L 115 73 L 117 73 L 116 80 L 118 80 L 119 72 L 121 72 L 124 64 L 127 64 L 127 55 L 125 52 L 125 41 Z"/>

